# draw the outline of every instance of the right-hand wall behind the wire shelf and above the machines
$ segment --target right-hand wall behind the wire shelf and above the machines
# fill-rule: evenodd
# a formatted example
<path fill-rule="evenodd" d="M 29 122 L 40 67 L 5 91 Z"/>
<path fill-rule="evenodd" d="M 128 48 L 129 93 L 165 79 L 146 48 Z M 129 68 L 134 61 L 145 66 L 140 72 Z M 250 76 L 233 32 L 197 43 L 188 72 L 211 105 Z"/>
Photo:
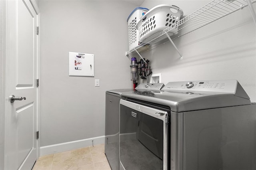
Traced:
<path fill-rule="evenodd" d="M 152 8 L 173 4 L 188 15 L 208 0 L 145 0 L 141 5 Z M 253 4 L 256 9 L 256 3 Z M 256 101 L 256 26 L 248 7 L 142 54 L 150 60 L 153 73 L 162 73 L 162 83 L 169 81 L 237 79 Z"/>

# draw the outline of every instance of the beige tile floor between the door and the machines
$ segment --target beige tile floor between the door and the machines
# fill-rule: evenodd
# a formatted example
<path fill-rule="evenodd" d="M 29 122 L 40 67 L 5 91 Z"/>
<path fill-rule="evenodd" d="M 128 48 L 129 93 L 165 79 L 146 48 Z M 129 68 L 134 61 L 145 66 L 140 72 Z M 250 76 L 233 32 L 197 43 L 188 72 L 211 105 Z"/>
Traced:
<path fill-rule="evenodd" d="M 111 170 L 104 144 L 41 156 L 32 170 Z"/>

